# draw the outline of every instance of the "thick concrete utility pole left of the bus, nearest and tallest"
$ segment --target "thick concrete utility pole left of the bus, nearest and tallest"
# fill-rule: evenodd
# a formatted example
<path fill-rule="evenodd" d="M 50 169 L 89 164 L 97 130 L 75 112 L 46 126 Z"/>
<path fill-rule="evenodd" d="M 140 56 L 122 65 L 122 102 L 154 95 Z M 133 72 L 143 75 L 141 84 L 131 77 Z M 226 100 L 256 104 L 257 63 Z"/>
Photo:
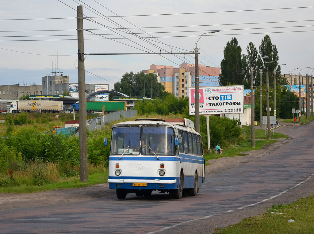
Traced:
<path fill-rule="evenodd" d="M 88 181 L 86 95 L 85 95 L 85 54 L 83 6 L 77 6 L 78 24 L 78 102 L 79 102 L 79 173 L 80 181 Z"/>

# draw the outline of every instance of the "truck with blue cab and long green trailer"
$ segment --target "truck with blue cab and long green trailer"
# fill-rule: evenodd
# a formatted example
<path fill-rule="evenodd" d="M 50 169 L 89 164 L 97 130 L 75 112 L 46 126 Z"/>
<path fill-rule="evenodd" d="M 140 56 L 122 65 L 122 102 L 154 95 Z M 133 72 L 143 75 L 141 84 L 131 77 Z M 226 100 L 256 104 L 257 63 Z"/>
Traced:
<path fill-rule="evenodd" d="M 87 101 L 86 102 L 86 111 L 88 113 L 93 112 L 102 112 L 102 107 L 105 106 L 105 114 L 108 114 L 113 111 L 120 111 L 127 109 L 126 102 L 97 102 L 97 101 Z M 78 113 L 79 105 L 78 102 L 74 103 L 71 108 L 71 112 L 74 111 Z"/>

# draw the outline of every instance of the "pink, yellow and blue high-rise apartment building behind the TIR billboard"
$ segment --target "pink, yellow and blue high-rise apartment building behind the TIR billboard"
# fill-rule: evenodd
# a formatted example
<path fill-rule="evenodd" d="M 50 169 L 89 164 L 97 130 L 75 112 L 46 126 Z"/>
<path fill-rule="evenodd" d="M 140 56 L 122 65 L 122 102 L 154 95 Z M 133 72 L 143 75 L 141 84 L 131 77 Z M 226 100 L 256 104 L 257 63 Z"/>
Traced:
<path fill-rule="evenodd" d="M 165 86 L 165 91 L 176 97 L 187 97 L 189 88 L 195 87 L 194 64 L 182 63 L 180 68 L 152 64 L 143 73 L 156 74 L 159 82 Z M 199 64 L 199 86 L 219 86 L 219 74 L 220 68 Z"/>

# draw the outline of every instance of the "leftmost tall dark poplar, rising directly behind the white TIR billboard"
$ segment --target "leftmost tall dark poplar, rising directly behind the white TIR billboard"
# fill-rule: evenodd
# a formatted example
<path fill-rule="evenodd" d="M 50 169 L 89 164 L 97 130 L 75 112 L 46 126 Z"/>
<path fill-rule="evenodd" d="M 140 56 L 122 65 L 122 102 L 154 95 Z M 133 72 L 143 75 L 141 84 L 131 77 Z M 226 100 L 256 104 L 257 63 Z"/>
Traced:
<path fill-rule="evenodd" d="M 235 37 L 227 42 L 224 49 L 224 58 L 220 63 L 221 73 L 219 75 L 219 84 L 237 84 L 241 85 L 244 81 L 243 57 L 241 47 Z"/>

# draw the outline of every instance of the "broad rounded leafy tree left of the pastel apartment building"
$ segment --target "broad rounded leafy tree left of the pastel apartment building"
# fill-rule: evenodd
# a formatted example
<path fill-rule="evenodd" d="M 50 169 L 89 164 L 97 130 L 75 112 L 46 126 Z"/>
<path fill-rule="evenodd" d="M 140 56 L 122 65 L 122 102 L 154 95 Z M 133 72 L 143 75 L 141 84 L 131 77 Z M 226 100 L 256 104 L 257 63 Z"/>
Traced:
<path fill-rule="evenodd" d="M 164 97 L 168 95 L 165 87 L 158 82 L 157 75 L 138 72 L 126 73 L 120 82 L 114 84 L 114 91 L 127 94 L 128 96 L 143 96 L 148 98 Z"/>

